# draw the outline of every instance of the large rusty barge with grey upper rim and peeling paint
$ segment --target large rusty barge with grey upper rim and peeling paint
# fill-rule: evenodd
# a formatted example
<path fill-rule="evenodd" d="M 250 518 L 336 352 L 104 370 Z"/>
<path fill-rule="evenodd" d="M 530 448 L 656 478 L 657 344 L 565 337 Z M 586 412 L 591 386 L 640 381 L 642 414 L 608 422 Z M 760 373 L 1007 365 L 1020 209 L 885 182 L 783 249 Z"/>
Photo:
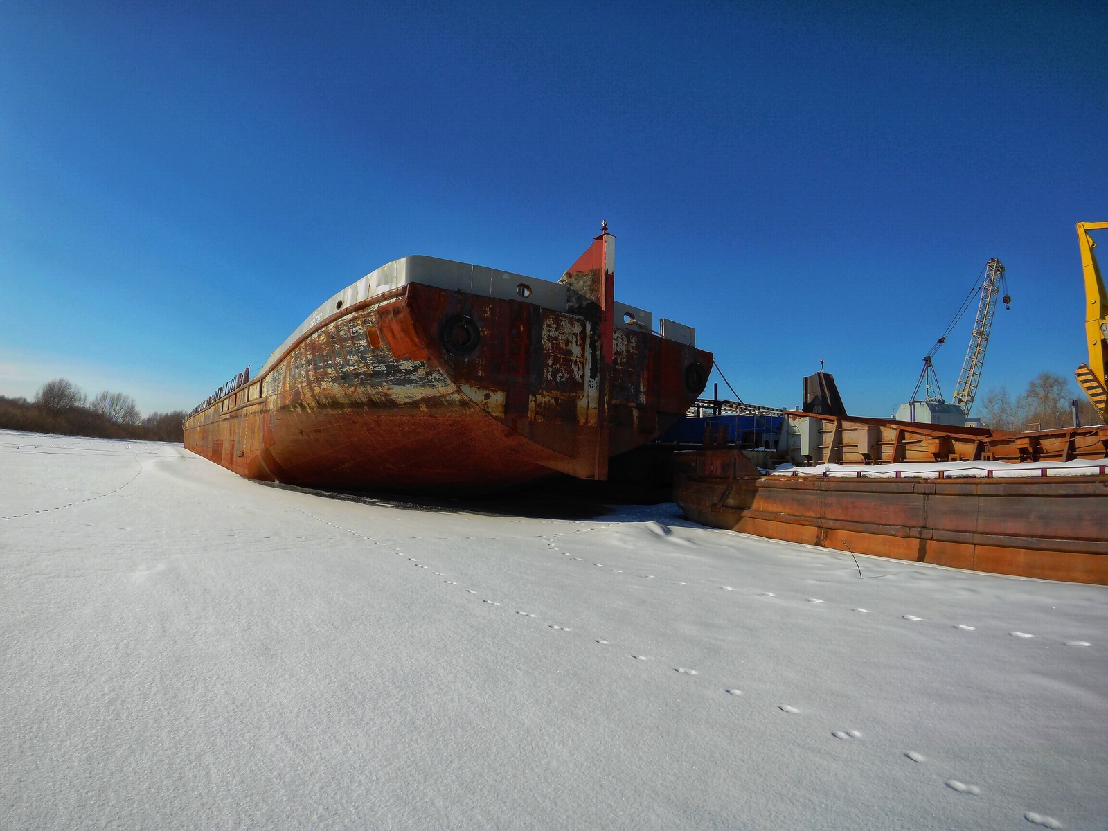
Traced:
<path fill-rule="evenodd" d="M 606 226 L 557 281 L 433 257 L 389 263 L 320 306 L 256 378 L 185 421 L 185 447 L 288 484 L 495 490 L 605 479 L 696 400 L 695 332 L 615 299 Z"/>

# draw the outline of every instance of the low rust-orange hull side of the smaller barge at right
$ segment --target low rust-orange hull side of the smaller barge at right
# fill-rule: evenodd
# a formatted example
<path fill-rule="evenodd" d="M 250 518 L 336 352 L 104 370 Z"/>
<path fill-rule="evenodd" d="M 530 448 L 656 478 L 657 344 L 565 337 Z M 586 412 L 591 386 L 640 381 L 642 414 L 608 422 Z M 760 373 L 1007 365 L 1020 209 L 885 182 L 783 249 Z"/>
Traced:
<path fill-rule="evenodd" d="M 835 479 L 675 454 L 675 499 L 715 527 L 854 553 L 1108 585 L 1108 476 Z"/>

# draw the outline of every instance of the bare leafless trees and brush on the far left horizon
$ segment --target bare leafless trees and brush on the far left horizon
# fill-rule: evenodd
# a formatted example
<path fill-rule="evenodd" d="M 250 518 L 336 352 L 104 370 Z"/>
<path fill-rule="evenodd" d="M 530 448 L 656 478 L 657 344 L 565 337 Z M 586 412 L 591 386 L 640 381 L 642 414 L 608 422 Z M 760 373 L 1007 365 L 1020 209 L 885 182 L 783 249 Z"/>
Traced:
<path fill-rule="evenodd" d="M 134 399 L 104 390 L 91 401 L 72 381 L 55 378 L 34 401 L 0 396 L 0 428 L 32 433 L 91 435 L 99 439 L 183 441 L 184 410 L 143 418 Z"/>

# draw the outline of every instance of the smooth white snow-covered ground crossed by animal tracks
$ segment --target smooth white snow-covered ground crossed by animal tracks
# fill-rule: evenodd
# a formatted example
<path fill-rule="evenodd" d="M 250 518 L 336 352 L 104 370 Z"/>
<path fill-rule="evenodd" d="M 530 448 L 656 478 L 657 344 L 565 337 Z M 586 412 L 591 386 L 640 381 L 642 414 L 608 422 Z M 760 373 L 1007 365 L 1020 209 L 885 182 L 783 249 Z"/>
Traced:
<path fill-rule="evenodd" d="M 9 431 L 0 517 L 3 828 L 1108 823 L 1105 587 Z"/>

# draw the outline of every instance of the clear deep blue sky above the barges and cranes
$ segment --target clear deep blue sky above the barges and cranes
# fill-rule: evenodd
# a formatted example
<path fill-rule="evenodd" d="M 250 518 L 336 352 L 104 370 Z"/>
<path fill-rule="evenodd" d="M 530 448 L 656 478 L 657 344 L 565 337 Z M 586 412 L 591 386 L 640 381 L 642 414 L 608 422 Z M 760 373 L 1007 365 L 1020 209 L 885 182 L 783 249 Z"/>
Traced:
<path fill-rule="evenodd" d="M 0 394 L 188 409 L 383 263 L 556 279 L 601 219 L 743 399 L 825 358 L 859 414 L 998 257 L 1015 391 L 1085 358 L 1106 150 L 1104 3 L 2 0 Z"/>

